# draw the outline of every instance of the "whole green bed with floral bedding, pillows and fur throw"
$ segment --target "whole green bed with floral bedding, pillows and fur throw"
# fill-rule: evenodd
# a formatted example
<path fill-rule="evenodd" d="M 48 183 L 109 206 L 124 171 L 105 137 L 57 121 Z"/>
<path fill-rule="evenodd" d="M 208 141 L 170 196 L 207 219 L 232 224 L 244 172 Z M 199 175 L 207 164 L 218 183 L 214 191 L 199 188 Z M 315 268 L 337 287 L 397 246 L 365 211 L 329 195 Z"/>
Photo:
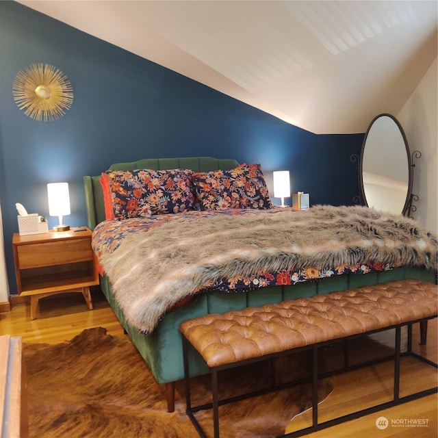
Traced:
<path fill-rule="evenodd" d="M 157 172 L 161 172 L 158 177 Z M 170 179 L 167 172 L 171 172 Z M 167 183 L 159 180 L 164 175 Z M 110 194 L 108 182 L 105 185 L 103 181 L 108 177 Z M 229 179 L 233 180 L 231 188 Z M 164 185 L 172 185 L 171 180 L 177 184 L 177 195 L 171 190 L 170 194 L 166 192 Z M 144 193 L 133 195 L 142 184 L 152 188 L 157 181 L 161 181 L 159 189 L 166 192 L 164 197 L 162 192 L 158 193 L 166 198 L 164 207 L 159 196 L 155 196 L 155 189 L 152 194 L 148 192 L 147 201 Z M 233 185 L 236 181 L 238 189 Z M 395 223 L 393 218 L 389 221 L 394 223 L 385 231 L 385 238 L 402 237 L 394 237 L 395 243 L 389 244 L 394 246 L 391 255 L 383 251 L 382 260 L 376 255 L 379 251 L 370 253 L 369 248 L 357 245 L 333 250 L 332 237 L 309 241 L 311 237 L 307 234 L 315 235 L 315 230 L 322 227 L 318 221 L 342 216 L 342 223 L 336 217 L 333 236 L 342 229 L 348 231 L 350 210 L 357 209 L 354 214 L 359 212 L 367 217 L 376 216 L 375 211 L 365 207 L 317 206 L 309 211 L 275 207 L 268 199 L 259 165 L 240 165 L 235 159 L 214 157 L 140 159 L 113 164 L 101 175 L 84 177 L 83 183 L 88 226 L 93 230 L 93 247 L 100 262 L 101 289 L 157 382 L 166 385 L 168 411 L 175 407 L 175 382 L 183 378 L 178 326 L 184 320 L 385 281 L 413 278 L 435 282 L 436 237 L 409 222 L 409 218 L 400 216 L 397 218 L 400 223 Z M 240 196 L 235 196 L 237 190 Z M 227 196 L 221 194 L 218 201 L 220 191 Z M 299 246 L 307 251 L 306 257 L 300 255 L 294 259 L 298 256 L 292 257 L 283 248 L 284 240 L 290 239 L 292 233 L 288 224 L 302 227 L 300 223 L 305 223 L 310 228 L 308 219 L 312 215 L 318 216 L 312 222 L 313 232 L 292 230 L 294 235 L 302 236 Z M 259 230 L 264 222 L 266 226 Z M 356 222 L 364 220 L 359 218 Z M 406 232 L 399 230 L 402 225 Z M 373 227 L 368 227 L 367 233 L 376 237 L 380 231 Z M 270 232 L 265 235 L 266 228 Z M 172 233 L 177 236 L 173 235 L 173 240 Z M 238 248 L 230 248 L 235 245 L 237 234 L 242 234 L 241 243 Z M 257 242 L 253 240 L 255 235 L 260 235 Z M 338 240 L 348 235 L 350 231 Z M 422 242 L 420 249 L 409 249 L 410 244 L 405 241 L 412 236 L 416 242 Z M 364 237 L 363 241 L 368 245 L 370 240 L 376 240 L 376 246 L 382 246 L 378 242 L 380 237 L 374 237 Z M 209 253 L 196 259 L 196 253 L 201 253 L 198 250 L 201 240 Z M 372 254 L 372 260 L 363 261 L 365 250 L 367 257 Z M 231 261 L 230 252 L 234 257 Z M 255 260 L 253 257 L 258 253 L 262 255 Z M 313 258 L 307 266 L 305 260 L 309 254 Z M 358 254 L 359 259 L 362 257 L 360 263 L 355 258 Z M 315 257 L 322 263 L 318 268 L 315 268 Z M 237 266 L 242 271 L 234 271 Z M 144 294 L 146 290 L 148 294 Z M 190 370 L 192 375 L 208 372 L 194 351 L 190 352 Z"/>

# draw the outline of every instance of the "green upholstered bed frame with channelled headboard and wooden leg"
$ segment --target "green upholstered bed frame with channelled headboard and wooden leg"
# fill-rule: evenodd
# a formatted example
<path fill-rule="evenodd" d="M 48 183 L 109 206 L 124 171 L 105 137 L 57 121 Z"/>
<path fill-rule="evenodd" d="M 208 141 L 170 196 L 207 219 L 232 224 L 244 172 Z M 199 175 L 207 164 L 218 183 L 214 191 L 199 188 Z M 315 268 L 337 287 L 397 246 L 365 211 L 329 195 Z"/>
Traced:
<path fill-rule="evenodd" d="M 109 170 L 135 170 L 151 168 L 165 170 L 174 168 L 189 168 L 196 172 L 209 170 L 230 170 L 237 166 L 235 159 L 216 159 L 213 157 L 181 157 L 163 159 L 140 159 L 137 162 L 113 164 Z M 103 193 L 99 182 L 100 175 L 83 177 L 86 192 L 86 206 L 88 227 L 94 229 L 99 222 L 105 220 Z M 183 353 L 181 335 L 178 326 L 184 320 L 196 318 L 207 313 L 224 313 L 229 310 L 244 309 L 250 306 L 259 306 L 267 302 L 280 302 L 302 296 L 325 294 L 335 290 L 346 290 L 352 287 L 383 283 L 384 281 L 401 280 L 407 278 L 422 281 L 435 281 L 435 272 L 417 268 L 398 268 L 386 272 L 372 272 L 370 274 L 344 274 L 333 276 L 321 281 L 262 287 L 251 292 L 224 294 L 223 292 L 209 292 L 196 297 L 188 305 L 167 313 L 159 322 L 157 329 L 149 335 L 142 335 L 129 326 L 123 311 L 118 307 L 112 286 L 106 276 L 101 277 L 101 289 L 110 306 L 116 313 L 118 320 L 128 333 L 133 344 L 151 368 L 153 375 L 160 384 L 166 384 L 168 411 L 173 411 L 175 401 L 175 381 L 183 378 Z M 200 375 L 208 372 L 207 365 L 198 353 L 190 352 L 190 374 Z"/>

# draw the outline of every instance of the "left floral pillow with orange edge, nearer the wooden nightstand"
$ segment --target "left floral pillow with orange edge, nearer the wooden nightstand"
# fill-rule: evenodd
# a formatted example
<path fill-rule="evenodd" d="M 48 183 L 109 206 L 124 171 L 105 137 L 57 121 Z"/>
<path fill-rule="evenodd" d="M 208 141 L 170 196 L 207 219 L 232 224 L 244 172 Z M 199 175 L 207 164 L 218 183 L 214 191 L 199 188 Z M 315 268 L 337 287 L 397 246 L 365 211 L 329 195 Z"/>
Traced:
<path fill-rule="evenodd" d="M 193 209 L 192 170 L 107 172 L 116 219 L 179 213 Z"/>

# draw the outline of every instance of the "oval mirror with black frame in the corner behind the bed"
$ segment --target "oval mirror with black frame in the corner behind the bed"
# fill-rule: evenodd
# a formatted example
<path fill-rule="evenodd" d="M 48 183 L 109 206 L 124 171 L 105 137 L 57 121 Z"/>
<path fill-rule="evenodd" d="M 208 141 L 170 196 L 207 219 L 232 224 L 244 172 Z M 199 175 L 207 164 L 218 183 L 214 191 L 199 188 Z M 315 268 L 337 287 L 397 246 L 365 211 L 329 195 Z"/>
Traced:
<path fill-rule="evenodd" d="M 391 114 L 379 114 L 368 127 L 362 144 L 359 186 L 364 205 L 409 214 L 411 155 L 404 131 Z"/>

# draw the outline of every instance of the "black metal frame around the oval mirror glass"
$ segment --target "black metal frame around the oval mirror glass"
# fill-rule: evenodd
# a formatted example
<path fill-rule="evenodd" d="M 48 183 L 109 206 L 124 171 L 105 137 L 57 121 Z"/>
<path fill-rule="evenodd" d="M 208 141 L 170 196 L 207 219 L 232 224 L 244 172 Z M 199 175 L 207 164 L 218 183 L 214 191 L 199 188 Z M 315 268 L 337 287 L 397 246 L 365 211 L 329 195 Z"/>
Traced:
<path fill-rule="evenodd" d="M 368 207 L 368 202 L 367 202 L 367 199 L 365 196 L 365 190 L 363 188 L 363 153 L 365 151 L 365 146 L 366 146 L 366 142 L 368 139 L 368 135 L 370 133 L 370 129 L 372 128 L 372 126 L 374 125 L 376 120 L 378 120 L 378 118 L 381 118 L 383 116 L 391 118 L 391 120 L 393 120 L 394 123 L 396 123 L 396 125 L 398 126 L 398 129 L 400 129 L 400 133 L 402 134 L 402 138 L 404 141 L 404 146 L 406 148 L 406 155 L 407 155 L 407 160 L 408 160 L 409 181 L 408 181 L 406 201 L 404 203 L 404 207 L 403 207 L 402 211 L 400 212 L 400 214 L 403 214 L 405 216 L 410 216 L 413 198 L 417 199 L 417 196 L 412 194 L 413 166 L 415 166 L 415 164 L 412 164 L 411 154 L 409 151 L 409 144 L 408 144 L 406 135 L 404 134 L 403 128 L 400 125 L 400 123 L 398 122 L 398 120 L 394 116 L 392 116 L 391 114 L 383 113 L 383 114 L 378 114 L 378 116 L 374 117 L 373 120 L 371 121 L 370 125 L 368 126 L 368 129 L 365 133 L 365 137 L 363 138 L 361 156 L 359 159 L 359 190 L 361 191 L 361 204 Z M 417 154 L 417 155 L 415 155 L 417 158 L 419 158 L 421 156 L 419 151 L 415 151 L 415 154 Z"/>

